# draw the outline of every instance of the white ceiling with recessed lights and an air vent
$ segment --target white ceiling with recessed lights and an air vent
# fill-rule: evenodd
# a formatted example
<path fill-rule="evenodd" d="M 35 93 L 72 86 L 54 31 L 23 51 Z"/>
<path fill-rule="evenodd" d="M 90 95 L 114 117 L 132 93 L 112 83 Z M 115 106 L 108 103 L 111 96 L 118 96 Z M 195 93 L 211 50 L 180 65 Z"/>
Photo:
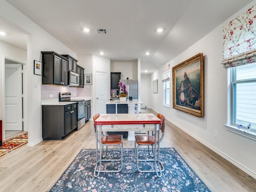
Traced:
<path fill-rule="evenodd" d="M 7 0 L 77 54 L 160 68 L 252 0 Z M 0 40 L 26 50 L 26 32 L 0 17 Z M 91 29 L 89 33 L 83 28 Z M 163 27 L 159 34 L 156 28 Z M 106 29 L 107 34 L 98 34 Z M 220 38 L 220 37 L 218 37 Z M 145 55 L 145 52 L 150 52 Z M 204 50 L 202 50 L 204 52 Z M 186 58 L 184 58 L 186 59 Z"/>

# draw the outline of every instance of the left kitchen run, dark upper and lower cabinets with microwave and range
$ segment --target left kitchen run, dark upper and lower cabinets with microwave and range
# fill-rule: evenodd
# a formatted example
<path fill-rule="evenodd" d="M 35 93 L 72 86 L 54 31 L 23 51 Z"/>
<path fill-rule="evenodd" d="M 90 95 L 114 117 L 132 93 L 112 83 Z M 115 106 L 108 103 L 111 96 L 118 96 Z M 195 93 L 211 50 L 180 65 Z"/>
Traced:
<path fill-rule="evenodd" d="M 74 130 L 79 130 L 90 120 L 91 100 L 78 96 L 84 88 L 84 68 L 70 55 L 60 55 L 53 51 L 42 51 L 42 136 L 43 140 L 62 140 Z M 72 77 L 71 77 L 72 75 Z M 73 82 L 74 81 L 74 82 Z M 60 85 L 54 86 L 51 85 Z M 71 92 L 62 92 L 65 90 Z M 52 94 L 52 90 L 55 93 Z M 58 95 L 58 99 L 56 95 Z"/>

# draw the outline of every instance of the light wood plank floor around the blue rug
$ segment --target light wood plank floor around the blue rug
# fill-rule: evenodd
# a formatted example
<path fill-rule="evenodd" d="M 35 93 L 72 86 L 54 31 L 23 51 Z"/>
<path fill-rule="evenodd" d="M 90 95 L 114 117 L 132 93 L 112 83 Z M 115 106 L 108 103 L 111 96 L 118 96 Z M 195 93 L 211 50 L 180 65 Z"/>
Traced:
<path fill-rule="evenodd" d="M 133 147 L 133 141 L 124 141 L 124 148 Z M 174 147 L 212 192 L 256 191 L 254 178 L 168 122 L 160 147 Z M 82 148 L 96 148 L 92 121 L 62 141 L 22 146 L 2 156 L 0 192 L 49 191 Z"/>

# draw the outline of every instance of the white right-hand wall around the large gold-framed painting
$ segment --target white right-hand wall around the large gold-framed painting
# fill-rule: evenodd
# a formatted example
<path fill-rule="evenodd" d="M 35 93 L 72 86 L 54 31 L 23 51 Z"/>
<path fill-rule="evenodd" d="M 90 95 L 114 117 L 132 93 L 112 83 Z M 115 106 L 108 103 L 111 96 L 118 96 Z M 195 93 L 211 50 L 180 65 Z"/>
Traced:
<path fill-rule="evenodd" d="M 166 118 L 185 130 L 188 134 L 210 147 L 212 150 L 242 168 L 248 174 L 256 178 L 255 151 L 256 141 L 239 136 L 226 130 L 229 113 L 228 97 L 228 71 L 221 63 L 222 60 L 222 26 L 228 24 L 236 16 L 246 12 L 248 8 L 256 4 L 252 2 L 223 24 L 218 26 L 204 38 L 196 42 L 173 60 L 170 60 L 171 70 L 173 66 L 198 54 L 204 54 L 204 118 L 198 118 L 190 114 L 172 108 L 172 88 L 170 90 L 170 109 L 163 106 L 163 83 L 161 82 L 161 69 L 151 74 L 152 80 L 158 79 L 158 94 L 151 94 L 152 108 L 156 112 L 162 112 Z M 170 84 L 172 84 L 172 71 L 170 72 Z M 172 86 L 171 86 L 172 87 Z M 157 99 L 157 98 L 160 98 Z M 214 138 L 214 130 L 217 130 L 217 138 Z"/>

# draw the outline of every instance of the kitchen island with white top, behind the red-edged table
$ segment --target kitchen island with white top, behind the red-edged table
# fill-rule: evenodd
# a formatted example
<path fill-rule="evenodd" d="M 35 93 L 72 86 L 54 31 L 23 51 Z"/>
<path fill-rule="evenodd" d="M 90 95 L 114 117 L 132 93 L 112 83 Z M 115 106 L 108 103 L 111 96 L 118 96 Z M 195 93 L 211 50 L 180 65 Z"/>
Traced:
<path fill-rule="evenodd" d="M 143 102 L 138 101 L 138 99 L 134 100 L 126 100 L 125 102 L 120 102 L 118 99 L 110 100 L 106 103 L 106 113 L 107 114 L 114 114 L 117 112 L 118 114 L 125 114 L 125 113 L 136 113 L 137 110 L 140 110 L 141 105 Z M 122 134 L 123 138 L 127 138 L 128 140 L 135 140 L 134 131 L 128 132 L 111 132 L 108 134 Z"/>

